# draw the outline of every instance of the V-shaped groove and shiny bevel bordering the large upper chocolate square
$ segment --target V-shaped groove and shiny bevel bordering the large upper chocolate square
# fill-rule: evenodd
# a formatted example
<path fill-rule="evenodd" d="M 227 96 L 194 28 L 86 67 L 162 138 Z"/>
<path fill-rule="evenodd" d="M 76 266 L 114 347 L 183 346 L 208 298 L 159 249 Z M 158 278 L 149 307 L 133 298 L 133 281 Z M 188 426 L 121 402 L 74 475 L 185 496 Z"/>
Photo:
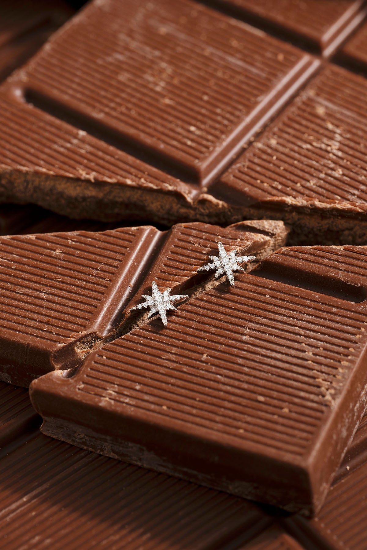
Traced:
<path fill-rule="evenodd" d="M 304 68 L 303 71 L 302 68 Z M 240 140 L 235 140 L 232 149 L 228 151 L 220 162 L 212 162 L 212 171 L 201 182 L 200 178 L 198 179 L 195 174 L 190 174 L 188 168 L 180 166 L 180 161 L 177 159 L 172 160 L 165 155 L 158 156 L 154 149 L 150 151 L 149 147 L 139 142 L 138 139 L 134 139 L 129 135 L 124 135 L 118 130 L 107 127 L 99 120 L 90 118 L 86 114 L 76 111 L 72 106 L 68 106 L 65 103 L 61 103 L 52 97 L 42 94 L 42 92 L 38 90 L 32 89 L 31 85 L 29 87 L 23 87 L 21 80 L 17 82 L 17 74 L 12 75 L 11 84 L 3 85 L 3 88 L 8 87 L 9 90 L 12 90 L 17 101 L 24 101 L 26 104 L 36 107 L 43 113 L 47 113 L 51 117 L 69 124 L 73 128 L 85 131 L 92 138 L 102 141 L 107 145 L 111 145 L 115 149 L 134 157 L 136 160 L 144 162 L 150 167 L 182 181 L 185 185 L 188 185 L 189 188 L 192 188 L 190 195 L 191 200 L 195 203 L 195 201 L 201 198 L 203 192 L 205 194 L 206 185 L 220 178 L 220 175 L 232 166 L 236 157 L 242 154 L 243 145 L 249 142 L 252 136 L 259 132 L 261 134 L 264 125 L 267 128 L 295 96 L 309 84 L 310 78 L 316 76 L 321 68 L 322 65 L 318 59 L 300 59 L 293 70 L 284 76 L 281 82 L 274 87 L 270 94 L 268 94 L 267 103 L 265 106 L 258 109 L 260 118 L 255 109 L 255 111 L 251 112 L 250 116 L 245 119 L 245 124 L 243 123 L 238 126 L 236 133 L 239 134 L 242 126 L 248 125 L 252 118 L 259 118 L 258 122 L 252 125 L 249 131 Z M 284 91 L 284 86 L 282 86 L 282 84 L 287 81 L 291 84 Z M 269 106 L 270 99 L 273 101 L 271 106 Z M 231 143 L 232 141 L 234 141 L 234 138 L 232 138 Z M 224 148 L 222 148 L 222 150 L 224 150 Z"/>

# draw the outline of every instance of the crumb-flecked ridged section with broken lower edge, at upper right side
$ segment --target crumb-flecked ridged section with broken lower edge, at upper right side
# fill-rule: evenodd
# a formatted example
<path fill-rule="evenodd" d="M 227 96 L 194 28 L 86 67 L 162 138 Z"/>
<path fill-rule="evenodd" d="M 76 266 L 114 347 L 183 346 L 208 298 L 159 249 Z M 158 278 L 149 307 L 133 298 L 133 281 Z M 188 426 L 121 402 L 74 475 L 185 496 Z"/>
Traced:
<path fill-rule="evenodd" d="M 292 224 L 291 243 L 364 244 L 366 96 L 366 79 L 327 65 L 210 192 Z"/>

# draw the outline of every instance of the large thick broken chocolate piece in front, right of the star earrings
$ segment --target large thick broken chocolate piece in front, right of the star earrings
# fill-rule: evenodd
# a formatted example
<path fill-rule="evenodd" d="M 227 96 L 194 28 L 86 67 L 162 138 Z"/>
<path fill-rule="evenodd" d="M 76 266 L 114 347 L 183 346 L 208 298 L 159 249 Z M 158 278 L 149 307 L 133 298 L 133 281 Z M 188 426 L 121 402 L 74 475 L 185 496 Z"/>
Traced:
<path fill-rule="evenodd" d="M 318 508 L 365 406 L 366 255 L 282 249 L 233 289 L 180 306 L 167 328 L 154 321 L 74 377 L 35 381 L 43 430 L 289 510 Z"/>

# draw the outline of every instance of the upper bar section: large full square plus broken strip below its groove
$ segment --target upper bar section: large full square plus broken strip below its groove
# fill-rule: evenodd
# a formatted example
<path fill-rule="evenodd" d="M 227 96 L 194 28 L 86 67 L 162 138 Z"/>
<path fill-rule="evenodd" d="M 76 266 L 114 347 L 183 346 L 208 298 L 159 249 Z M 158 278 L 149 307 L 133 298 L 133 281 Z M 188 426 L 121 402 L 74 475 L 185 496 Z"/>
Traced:
<path fill-rule="evenodd" d="M 318 65 L 189 0 L 93 2 L 2 87 L 1 194 L 102 221 L 223 221 L 205 185 Z"/>

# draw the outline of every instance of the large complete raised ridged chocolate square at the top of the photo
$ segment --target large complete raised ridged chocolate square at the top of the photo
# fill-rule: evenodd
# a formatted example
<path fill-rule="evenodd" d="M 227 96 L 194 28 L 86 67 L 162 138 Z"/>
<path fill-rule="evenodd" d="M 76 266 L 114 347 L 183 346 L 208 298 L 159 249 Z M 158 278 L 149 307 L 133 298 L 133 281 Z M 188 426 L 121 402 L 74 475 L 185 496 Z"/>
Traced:
<path fill-rule="evenodd" d="M 255 124 L 247 120 L 259 119 L 254 106 L 261 111 L 309 62 L 194 2 L 105 0 L 51 40 L 26 87 L 202 182 L 238 149 Z"/>

